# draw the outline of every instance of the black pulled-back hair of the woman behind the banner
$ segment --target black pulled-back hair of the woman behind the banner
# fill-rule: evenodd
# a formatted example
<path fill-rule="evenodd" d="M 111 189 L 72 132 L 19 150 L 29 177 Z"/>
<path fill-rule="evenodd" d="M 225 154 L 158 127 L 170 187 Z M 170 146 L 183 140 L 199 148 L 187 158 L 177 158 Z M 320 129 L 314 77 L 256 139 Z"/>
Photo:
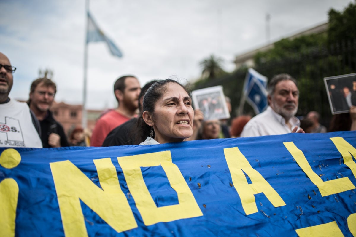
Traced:
<path fill-rule="evenodd" d="M 139 119 L 137 120 L 137 134 L 135 144 L 140 144 L 146 139 L 147 136 L 150 136 L 151 126 L 148 126 L 143 120 L 142 113 L 145 111 L 153 113 L 153 111 L 155 111 L 156 102 L 163 96 L 164 92 L 167 91 L 168 83 L 176 83 L 180 85 L 188 93 L 188 95 L 191 96 L 190 90 L 188 90 L 187 87 L 183 86 L 176 80 L 166 79 L 157 81 L 152 84 L 152 86 L 148 88 L 148 90 L 145 92 L 145 95 L 143 96 L 143 108 L 141 114 L 138 116 Z M 154 136 L 155 135 L 153 134 L 153 137 Z"/>

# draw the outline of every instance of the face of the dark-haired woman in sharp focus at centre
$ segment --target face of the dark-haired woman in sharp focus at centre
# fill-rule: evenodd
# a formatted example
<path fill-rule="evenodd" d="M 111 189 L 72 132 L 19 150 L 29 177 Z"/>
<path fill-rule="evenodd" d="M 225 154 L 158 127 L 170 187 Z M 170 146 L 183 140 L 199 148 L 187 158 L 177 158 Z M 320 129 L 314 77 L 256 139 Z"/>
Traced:
<path fill-rule="evenodd" d="M 156 101 L 151 122 L 155 130 L 155 140 L 160 144 L 179 142 L 193 134 L 192 99 L 179 84 L 170 82 L 166 91 Z M 144 117 L 145 118 L 145 117 Z"/>

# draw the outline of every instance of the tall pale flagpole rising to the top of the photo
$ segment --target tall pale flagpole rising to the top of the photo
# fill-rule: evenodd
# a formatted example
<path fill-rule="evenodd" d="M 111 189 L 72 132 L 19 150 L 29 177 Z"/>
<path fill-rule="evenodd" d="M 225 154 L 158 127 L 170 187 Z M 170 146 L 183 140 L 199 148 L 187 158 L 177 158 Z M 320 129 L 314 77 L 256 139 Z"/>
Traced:
<path fill-rule="evenodd" d="M 85 44 L 84 44 L 84 80 L 83 80 L 83 110 L 82 110 L 82 127 L 87 128 L 87 75 L 88 75 L 88 28 L 89 28 L 89 0 L 85 0 L 85 20 L 87 27 L 85 30 Z"/>

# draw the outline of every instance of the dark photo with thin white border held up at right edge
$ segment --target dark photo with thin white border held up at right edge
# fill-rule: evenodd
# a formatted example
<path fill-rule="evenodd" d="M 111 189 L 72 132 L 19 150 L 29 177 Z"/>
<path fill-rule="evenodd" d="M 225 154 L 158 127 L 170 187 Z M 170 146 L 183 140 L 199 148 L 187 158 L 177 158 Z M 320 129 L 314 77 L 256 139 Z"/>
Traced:
<path fill-rule="evenodd" d="M 332 114 L 350 112 L 356 106 L 356 73 L 324 77 Z"/>

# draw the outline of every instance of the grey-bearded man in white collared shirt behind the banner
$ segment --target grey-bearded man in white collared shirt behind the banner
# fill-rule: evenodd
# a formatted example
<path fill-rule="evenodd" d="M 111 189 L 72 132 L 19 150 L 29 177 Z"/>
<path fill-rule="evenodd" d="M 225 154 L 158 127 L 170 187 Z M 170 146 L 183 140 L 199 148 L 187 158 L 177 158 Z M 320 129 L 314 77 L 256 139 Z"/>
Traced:
<path fill-rule="evenodd" d="M 267 92 L 269 106 L 245 125 L 241 137 L 304 133 L 294 116 L 299 99 L 297 81 L 288 74 L 278 74 L 269 82 Z"/>

